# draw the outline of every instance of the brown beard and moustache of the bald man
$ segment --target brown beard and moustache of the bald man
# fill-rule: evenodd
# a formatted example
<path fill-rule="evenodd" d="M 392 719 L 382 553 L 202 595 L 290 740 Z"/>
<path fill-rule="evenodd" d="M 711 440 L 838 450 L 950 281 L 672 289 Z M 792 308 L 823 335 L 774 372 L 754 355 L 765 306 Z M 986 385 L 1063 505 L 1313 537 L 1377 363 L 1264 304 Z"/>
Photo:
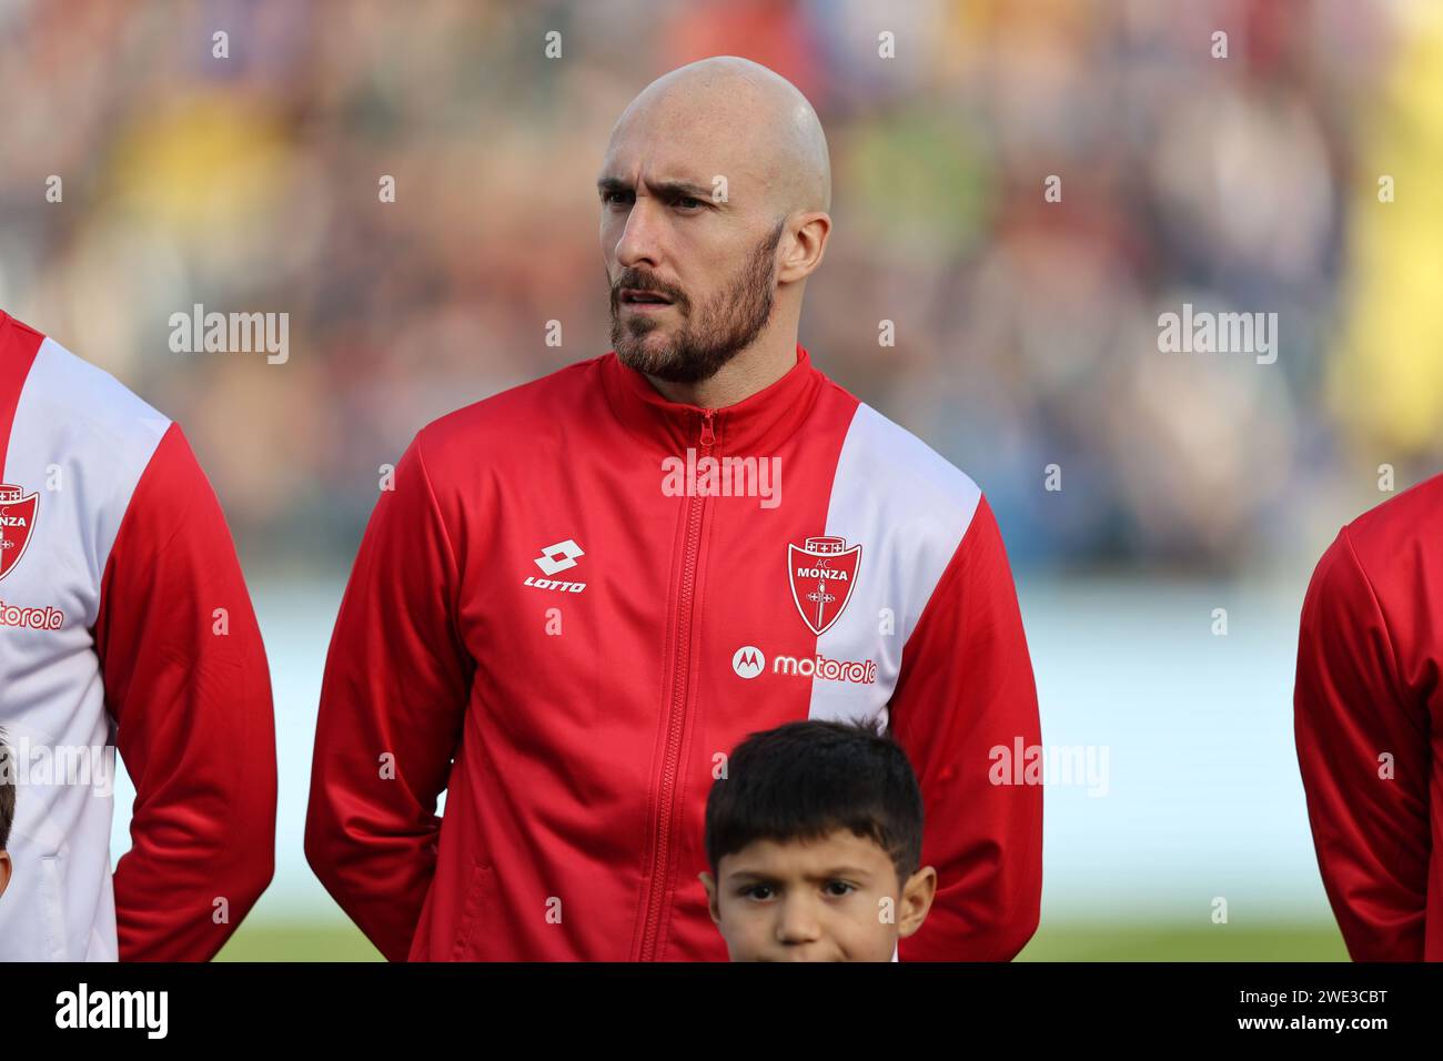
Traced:
<path fill-rule="evenodd" d="M 727 361 L 756 341 L 772 316 L 775 251 L 786 228 L 782 218 L 772 234 L 763 237 L 736 280 L 693 319 L 690 300 L 680 292 L 648 284 L 641 273 L 623 270 L 612 284 L 612 348 L 623 365 L 670 383 L 701 383 L 717 374 Z M 620 292 L 625 287 L 661 290 L 672 299 L 672 309 L 683 323 L 671 342 L 661 348 L 645 345 L 645 338 L 659 323 L 649 316 L 622 318 Z"/>

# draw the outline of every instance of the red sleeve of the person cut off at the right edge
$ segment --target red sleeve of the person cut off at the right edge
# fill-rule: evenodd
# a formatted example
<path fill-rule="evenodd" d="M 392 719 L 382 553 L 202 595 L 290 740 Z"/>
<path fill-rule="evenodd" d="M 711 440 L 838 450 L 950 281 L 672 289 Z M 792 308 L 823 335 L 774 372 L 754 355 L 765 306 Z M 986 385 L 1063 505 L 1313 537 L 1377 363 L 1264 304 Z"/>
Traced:
<path fill-rule="evenodd" d="M 1429 723 L 1395 652 L 1345 527 L 1303 601 L 1293 728 L 1317 866 L 1355 961 L 1423 960 Z"/>

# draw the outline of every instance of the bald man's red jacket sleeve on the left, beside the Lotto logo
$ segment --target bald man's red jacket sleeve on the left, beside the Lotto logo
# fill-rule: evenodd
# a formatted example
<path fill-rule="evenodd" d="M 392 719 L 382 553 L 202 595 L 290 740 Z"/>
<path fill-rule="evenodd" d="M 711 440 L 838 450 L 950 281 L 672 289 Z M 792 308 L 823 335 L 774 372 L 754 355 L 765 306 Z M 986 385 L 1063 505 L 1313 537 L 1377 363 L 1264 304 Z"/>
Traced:
<path fill-rule="evenodd" d="M 306 859 L 391 961 L 404 961 L 436 872 L 472 664 L 457 566 L 417 437 L 381 492 L 351 572 L 320 691 Z"/>

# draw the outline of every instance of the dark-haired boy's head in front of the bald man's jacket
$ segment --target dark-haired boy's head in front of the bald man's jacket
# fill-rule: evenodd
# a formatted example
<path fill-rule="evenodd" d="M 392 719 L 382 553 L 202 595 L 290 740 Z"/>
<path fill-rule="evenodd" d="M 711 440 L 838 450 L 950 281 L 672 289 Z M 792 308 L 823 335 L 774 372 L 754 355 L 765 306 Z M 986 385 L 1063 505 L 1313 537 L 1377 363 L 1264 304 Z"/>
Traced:
<path fill-rule="evenodd" d="M 753 733 L 711 785 L 711 920 L 733 961 L 887 961 L 922 927 L 922 793 L 880 722 Z"/>

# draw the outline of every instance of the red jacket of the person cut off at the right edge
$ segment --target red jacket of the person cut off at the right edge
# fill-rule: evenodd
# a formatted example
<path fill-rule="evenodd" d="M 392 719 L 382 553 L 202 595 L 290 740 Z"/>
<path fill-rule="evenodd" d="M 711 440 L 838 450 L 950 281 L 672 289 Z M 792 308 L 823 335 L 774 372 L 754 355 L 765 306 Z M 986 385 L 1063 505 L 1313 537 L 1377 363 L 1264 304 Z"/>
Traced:
<path fill-rule="evenodd" d="M 1297 642 L 1297 761 L 1355 961 L 1443 961 L 1443 475 L 1342 528 Z"/>

